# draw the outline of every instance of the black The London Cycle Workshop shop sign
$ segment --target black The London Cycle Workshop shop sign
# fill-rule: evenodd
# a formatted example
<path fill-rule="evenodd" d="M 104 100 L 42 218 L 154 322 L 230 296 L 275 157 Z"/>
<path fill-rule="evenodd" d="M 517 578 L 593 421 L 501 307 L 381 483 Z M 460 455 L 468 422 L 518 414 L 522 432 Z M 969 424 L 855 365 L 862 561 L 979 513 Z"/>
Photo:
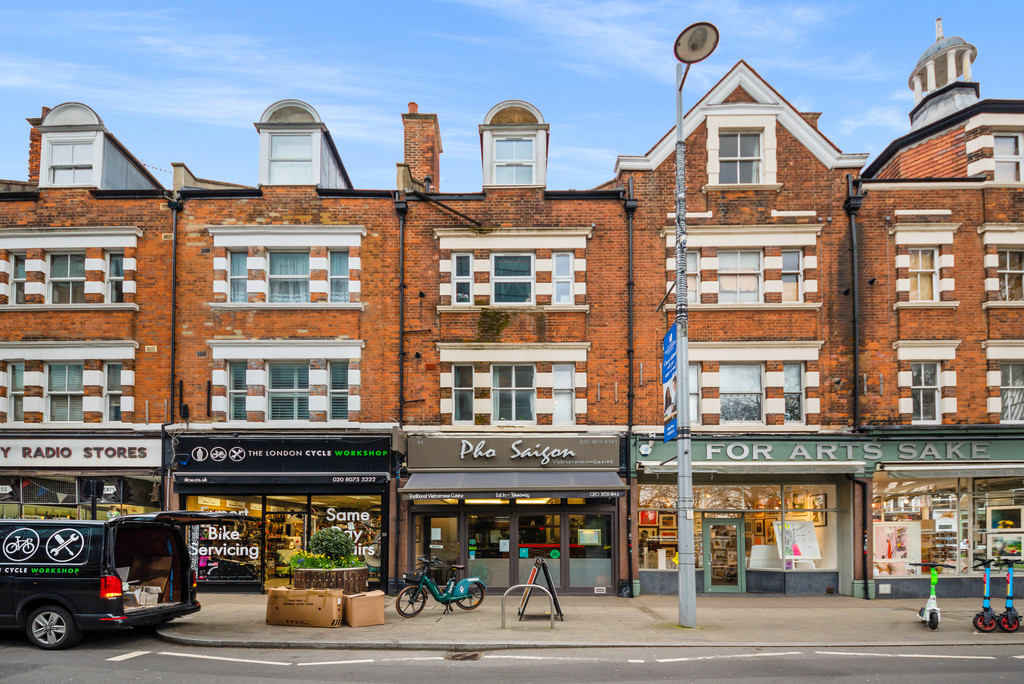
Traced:
<path fill-rule="evenodd" d="M 195 473 L 390 470 L 390 437 L 178 437 L 178 470 Z"/>

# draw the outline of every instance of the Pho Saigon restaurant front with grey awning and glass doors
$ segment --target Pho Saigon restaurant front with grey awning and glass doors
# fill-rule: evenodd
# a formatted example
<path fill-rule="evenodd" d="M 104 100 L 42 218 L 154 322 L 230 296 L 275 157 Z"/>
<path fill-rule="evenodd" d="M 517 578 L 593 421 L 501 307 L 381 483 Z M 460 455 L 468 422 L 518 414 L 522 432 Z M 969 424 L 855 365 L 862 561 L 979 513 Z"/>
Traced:
<path fill-rule="evenodd" d="M 500 591 L 527 582 L 540 557 L 560 592 L 614 593 L 621 446 L 614 436 L 411 435 L 407 569 L 437 557 Z"/>

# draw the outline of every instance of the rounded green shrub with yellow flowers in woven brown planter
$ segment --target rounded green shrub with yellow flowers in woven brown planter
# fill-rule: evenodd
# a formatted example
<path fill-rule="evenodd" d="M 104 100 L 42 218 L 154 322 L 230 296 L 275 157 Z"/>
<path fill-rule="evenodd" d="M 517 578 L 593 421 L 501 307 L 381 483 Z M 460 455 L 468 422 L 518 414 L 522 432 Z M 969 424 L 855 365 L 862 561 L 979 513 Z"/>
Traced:
<path fill-rule="evenodd" d="M 355 542 L 338 527 L 317 529 L 305 551 L 292 554 L 292 585 L 296 589 L 341 589 L 346 594 L 367 591 L 370 568 L 355 555 Z"/>

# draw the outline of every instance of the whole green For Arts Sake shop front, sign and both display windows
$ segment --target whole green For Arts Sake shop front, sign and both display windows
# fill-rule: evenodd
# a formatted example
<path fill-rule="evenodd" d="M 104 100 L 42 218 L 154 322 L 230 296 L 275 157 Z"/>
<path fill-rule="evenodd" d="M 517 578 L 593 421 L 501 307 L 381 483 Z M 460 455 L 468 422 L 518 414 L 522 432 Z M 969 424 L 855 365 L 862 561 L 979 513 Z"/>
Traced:
<path fill-rule="evenodd" d="M 675 593 L 676 447 L 633 445 L 642 591 Z M 934 562 L 944 596 L 972 597 L 978 560 L 1024 560 L 1021 429 L 697 437 L 692 462 L 697 591 L 922 598 Z"/>

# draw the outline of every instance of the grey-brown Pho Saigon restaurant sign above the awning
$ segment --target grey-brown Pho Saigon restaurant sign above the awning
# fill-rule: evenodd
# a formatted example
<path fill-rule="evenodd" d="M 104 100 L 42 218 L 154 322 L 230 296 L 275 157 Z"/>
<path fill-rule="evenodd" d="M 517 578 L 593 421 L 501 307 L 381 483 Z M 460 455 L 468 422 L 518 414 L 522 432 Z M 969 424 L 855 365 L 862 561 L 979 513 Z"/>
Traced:
<path fill-rule="evenodd" d="M 618 466 L 618 437 L 410 437 L 409 469 L 532 470 Z"/>

